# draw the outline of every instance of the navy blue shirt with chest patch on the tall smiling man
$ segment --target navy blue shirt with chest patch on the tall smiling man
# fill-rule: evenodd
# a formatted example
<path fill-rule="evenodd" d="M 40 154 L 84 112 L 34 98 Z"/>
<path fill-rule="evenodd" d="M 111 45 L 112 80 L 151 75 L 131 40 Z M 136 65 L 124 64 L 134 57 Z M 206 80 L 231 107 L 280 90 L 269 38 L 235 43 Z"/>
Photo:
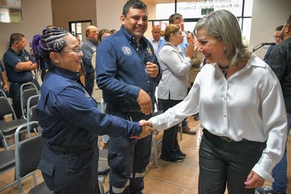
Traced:
<path fill-rule="evenodd" d="M 138 47 L 123 26 L 100 42 L 96 53 L 96 81 L 106 103 L 139 110 L 136 99 L 141 89 L 154 103 L 155 87 L 162 69 L 150 42 L 142 37 L 140 43 L 141 47 Z M 155 78 L 145 72 L 148 61 L 158 64 L 159 74 Z"/>

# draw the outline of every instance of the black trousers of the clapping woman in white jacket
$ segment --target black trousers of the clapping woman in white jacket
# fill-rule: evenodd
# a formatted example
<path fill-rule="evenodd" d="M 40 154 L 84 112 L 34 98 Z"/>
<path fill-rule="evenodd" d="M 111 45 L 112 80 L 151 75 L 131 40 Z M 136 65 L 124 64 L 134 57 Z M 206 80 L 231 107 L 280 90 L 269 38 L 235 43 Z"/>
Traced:
<path fill-rule="evenodd" d="M 162 109 L 164 111 L 173 107 L 179 102 L 181 101 L 160 99 L 160 103 L 162 103 Z M 178 129 L 179 125 L 174 125 L 174 127 L 171 127 L 170 129 L 164 131 L 164 134 L 162 135 L 162 159 L 175 161 L 179 157 L 180 147 L 177 138 Z"/>

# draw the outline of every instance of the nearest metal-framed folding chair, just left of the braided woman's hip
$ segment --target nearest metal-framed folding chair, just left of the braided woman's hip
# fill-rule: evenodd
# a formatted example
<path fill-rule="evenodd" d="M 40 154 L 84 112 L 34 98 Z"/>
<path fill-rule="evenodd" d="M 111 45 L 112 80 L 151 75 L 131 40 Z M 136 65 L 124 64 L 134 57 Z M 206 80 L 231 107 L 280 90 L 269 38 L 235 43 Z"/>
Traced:
<path fill-rule="evenodd" d="M 23 193 L 21 180 L 33 175 L 35 186 L 28 193 L 53 193 L 47 188 L 44 182 L 37 185 L 35 170 L 42 157 L 42 147 L 44 145 L 42 135 L 35 135 L 23 141 L 19 141 L 19 135 L 22 130 L 26 130 L 31 125 L 38 125 L 37 121 L 27 122 L 20 125 L 15 133 L 15 158 L 16 158 L 16 181 L 18 183 L 18 192 Z"/>

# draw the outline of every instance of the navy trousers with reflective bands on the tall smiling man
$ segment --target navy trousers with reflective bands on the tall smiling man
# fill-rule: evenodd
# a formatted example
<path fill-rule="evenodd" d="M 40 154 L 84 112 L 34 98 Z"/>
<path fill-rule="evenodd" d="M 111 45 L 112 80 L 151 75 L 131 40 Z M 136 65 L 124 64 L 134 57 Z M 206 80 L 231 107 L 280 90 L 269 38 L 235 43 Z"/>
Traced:
<path fill-rule="evenodd" d="M 139 121 L 150 118 L 142 113 L 125 114 L 109 109 L 111 108 L 107 105 L 107 113 L 110 112 L 127 120 Z M 110 137 L 108 150 L 110 193 L 142 192 L 143 176 L 150 162 L 151 145 L 152 135 L 139 140 Z"/>

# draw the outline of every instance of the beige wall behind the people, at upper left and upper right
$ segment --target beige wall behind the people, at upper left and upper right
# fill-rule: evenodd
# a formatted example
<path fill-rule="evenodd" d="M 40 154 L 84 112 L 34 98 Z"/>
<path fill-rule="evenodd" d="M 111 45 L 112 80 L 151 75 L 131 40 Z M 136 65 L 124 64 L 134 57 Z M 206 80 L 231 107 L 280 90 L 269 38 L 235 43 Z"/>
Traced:
<path fill-rule="evenodd" d="M 22 0 L 23 23 L 0 23 L 0 58 L 7 50 L 11 33 L 23 33 L 29 42 L 42 28 L 54 24 L 69 28 L 69 21 L 92 20 L 98 28 L 120 28 L 119 18 L 126 0 Z M 52 12 L 52 6 L 53 12 Z M 290 0 L 254 0 L 251 25 L 251 49 L 261 42 L 273 42 L 273 31 L 290 13 Z M 155 18 L 155 6 L 148 4 L 149 19 Z M 54 21 L 54 22 L 53 22 Z M 151 23 L 145 36 L 151 36 Z M 266 47 L 256 51 L 263 57 Z"/>

